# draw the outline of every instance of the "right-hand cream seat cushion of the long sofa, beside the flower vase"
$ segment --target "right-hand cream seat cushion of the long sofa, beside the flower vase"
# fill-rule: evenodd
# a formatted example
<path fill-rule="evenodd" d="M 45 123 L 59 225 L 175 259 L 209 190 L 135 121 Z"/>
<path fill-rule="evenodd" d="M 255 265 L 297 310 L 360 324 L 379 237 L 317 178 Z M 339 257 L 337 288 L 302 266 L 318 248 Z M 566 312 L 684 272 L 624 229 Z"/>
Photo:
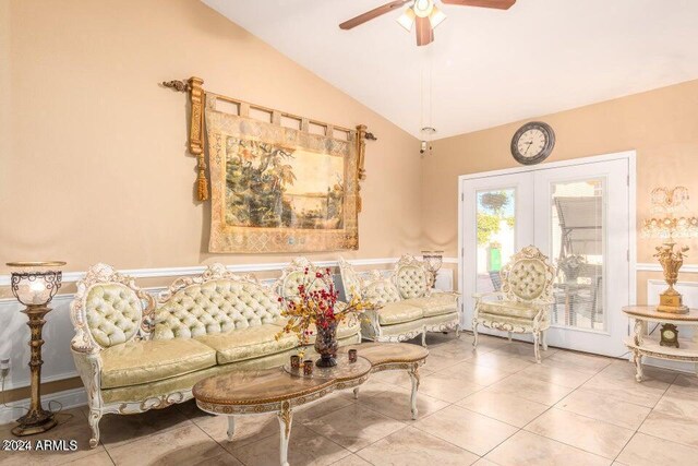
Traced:
<path fill-rule="evenodd" d="M 236 330 L 216 335 L 197 336 L 194 339 L 216 350 L 219 365 L 244 361 L 262 356 L 275 355 L 298 346 L 296 334 L 276 335 L 281 327 L 276 324 L 264 324 Z"/>

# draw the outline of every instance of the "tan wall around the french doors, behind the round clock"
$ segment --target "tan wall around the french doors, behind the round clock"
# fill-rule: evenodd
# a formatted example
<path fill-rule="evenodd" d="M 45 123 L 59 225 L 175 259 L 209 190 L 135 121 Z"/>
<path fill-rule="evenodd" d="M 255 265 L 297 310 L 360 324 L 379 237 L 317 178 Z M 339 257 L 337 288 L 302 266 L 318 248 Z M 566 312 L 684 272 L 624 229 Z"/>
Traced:
<path fill-rule="evenodd" d="M 687 187 L 689 207 L 698 214 L 698 81 L 530 120 L 545 121 L 555 131 L 555 148 L 546 162 L 636 150 L 638 225 L 649 215 L 649 193 L 655 187 Z M 458 176 L 516 167 L 509 144 L 524 122 L 433 143 L 433 156 L 422 164 L 424 244 L 457 255 Z M 657 243 L 638 237 L 638 262 L 654 262 Z M 698 263 L 698 242 L 687 243 L 694 253 L 686 262 Z M 638 276 L 638 300 L 647 278 Z"/>

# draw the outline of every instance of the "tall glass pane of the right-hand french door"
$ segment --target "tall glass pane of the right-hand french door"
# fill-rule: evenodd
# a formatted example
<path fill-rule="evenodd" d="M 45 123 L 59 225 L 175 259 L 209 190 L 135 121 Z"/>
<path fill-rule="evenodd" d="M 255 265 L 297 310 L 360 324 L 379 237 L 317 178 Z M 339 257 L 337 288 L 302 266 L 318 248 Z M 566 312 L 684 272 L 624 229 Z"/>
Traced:
<path fill-rule="evenodd" d="M 551 184 L 555 325 L 603 331 L 603 179 Z"/>

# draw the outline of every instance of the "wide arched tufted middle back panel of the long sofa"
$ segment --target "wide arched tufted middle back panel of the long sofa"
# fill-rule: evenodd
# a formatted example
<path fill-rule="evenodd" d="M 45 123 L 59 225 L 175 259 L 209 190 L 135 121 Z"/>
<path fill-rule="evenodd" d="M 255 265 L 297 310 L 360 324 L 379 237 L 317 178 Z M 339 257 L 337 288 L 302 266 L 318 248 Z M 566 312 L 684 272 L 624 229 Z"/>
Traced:
<path fill-rule="evenodd" d="M 155 313 L 154 338 L 191 338 L 280 318 L 278 298 L 264 285 L 219 277 L 185 286 L 161 302 Z"/>

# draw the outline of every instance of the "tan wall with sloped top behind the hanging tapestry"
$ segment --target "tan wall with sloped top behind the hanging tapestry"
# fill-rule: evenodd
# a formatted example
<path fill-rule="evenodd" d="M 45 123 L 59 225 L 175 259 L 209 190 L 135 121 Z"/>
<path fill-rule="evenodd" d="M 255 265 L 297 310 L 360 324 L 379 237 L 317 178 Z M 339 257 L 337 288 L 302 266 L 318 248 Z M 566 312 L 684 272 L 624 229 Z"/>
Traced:
<path fill-rule="evenodd" d="M 378 141 L 368 146 L 360 250 L 344 255 L 418 250 L 417 140 L 198 0 L 0 4 L 0 38 L 10 36 L 0 45 L 0 274 L 10 260 L 61 259 L 82 271 L 97 261 L 139 268 L 285 259 L 206 253 L 209 211 L 193 198 L 186 99 L 158 85 L 190 75 L 220 94 L 368 124 Z"/>

